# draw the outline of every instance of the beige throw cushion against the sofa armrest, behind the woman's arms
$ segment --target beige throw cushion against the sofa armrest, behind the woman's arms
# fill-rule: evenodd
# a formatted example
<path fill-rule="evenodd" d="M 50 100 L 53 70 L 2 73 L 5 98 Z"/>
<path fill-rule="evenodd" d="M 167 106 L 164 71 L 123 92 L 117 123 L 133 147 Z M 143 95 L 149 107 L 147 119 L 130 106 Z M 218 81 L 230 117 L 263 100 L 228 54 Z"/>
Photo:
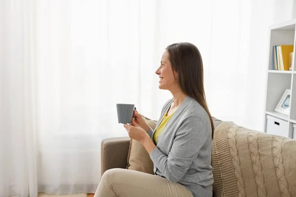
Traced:
<path fill-rule="evenodd" d="M 157 121 L 150 120 L 143 116 L 148 125 L 155 129 Z M 153 172 L 153 162 L 145 149 L 145 147 L 137 140 L 131 139 L 130 146 L 127 156 L 127 167 L 126 169 L 136 170 L 140 172 L 146 172 L 149 174 L 154 174 Z"/>

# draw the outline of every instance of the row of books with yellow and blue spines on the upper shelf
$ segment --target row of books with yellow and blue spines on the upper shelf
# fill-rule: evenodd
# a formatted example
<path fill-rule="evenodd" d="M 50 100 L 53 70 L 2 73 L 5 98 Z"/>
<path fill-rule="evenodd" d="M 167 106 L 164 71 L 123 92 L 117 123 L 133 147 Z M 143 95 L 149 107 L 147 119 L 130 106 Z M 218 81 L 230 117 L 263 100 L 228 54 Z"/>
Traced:
<path fill-rule="evenodd" d="M 275 70 L 290 70 L 294 62 L 294 45 L 275 45 L 272 49 Z"/>

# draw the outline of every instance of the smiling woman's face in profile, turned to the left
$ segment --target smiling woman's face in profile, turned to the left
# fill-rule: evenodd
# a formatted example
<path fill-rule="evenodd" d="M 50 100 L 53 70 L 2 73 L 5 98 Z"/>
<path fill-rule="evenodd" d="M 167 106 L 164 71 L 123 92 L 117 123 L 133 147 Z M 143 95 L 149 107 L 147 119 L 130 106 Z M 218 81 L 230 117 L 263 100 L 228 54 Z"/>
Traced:
<path fill-rule="evenodd" d="M 176 87 L 177 81 L 174 77 L 174 72 L 172 68 L 172 64 L 169 61 L 169 53 L 167 51 L 164 51 L 161 57 L 160 66 L 157 68 L 155 73 L 159 76 L 159 89 L 163 90 L 172 90 Z M 176 73 L 176 77 L 177 77 Z"/>

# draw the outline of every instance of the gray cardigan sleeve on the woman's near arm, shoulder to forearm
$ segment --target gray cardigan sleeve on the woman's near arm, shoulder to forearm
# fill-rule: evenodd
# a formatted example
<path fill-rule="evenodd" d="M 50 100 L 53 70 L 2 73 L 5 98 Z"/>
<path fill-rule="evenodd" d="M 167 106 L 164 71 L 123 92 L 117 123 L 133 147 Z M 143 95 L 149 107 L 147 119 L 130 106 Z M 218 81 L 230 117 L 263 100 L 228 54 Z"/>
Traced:
<path fill-rule="evenodd" d="M 153 164 L 170 181 L 180 181 L 193 159 L 209 137 L 203 121 L 199 118 L 187 117 L 176 132 L 169 155 L 163 154 L 158 148 L 150 153 Z"/>

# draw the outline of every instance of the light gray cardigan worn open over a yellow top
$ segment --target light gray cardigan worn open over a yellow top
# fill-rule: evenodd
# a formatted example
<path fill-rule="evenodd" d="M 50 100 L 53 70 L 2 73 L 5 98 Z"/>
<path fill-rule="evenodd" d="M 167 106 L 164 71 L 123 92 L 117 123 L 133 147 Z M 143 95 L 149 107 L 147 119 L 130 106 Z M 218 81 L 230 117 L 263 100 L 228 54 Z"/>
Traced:
<path fill-rule="evenodd" d="M 169 99 L 164 104 L 156 128 L 172 102 L 173 99 Z M 154 131 L 151 128 L 148 131 L 153 142 Z M 184 185 L 194 197 L 212 197 L 211 154 L 209 115 L 195 99 L 187 96 L 158 136 L 157 146 L 150 153 L 154 173 Z"/>

